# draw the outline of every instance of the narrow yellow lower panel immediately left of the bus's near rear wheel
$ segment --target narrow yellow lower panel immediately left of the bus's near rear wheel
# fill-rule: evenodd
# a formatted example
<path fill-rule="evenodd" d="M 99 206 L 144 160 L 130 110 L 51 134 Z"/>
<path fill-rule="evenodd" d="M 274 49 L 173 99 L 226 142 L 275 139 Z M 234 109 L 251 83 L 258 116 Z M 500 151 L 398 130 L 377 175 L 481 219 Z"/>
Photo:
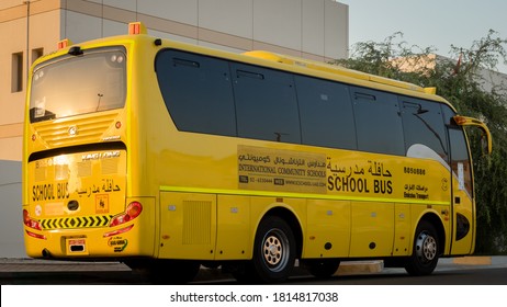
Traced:
<path fill-rule="evenodd" d="M 250 259 L 250 196 L 218 195 L 217 221 L 215 259 Z"/>

